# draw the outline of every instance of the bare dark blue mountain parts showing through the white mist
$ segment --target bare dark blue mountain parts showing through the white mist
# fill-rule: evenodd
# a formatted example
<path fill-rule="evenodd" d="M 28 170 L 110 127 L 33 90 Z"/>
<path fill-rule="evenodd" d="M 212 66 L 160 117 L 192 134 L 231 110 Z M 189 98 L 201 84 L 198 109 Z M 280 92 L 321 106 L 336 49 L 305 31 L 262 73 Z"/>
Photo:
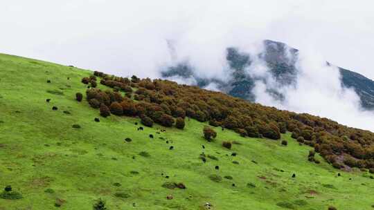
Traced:
<path fill-rule="evenodd" d="M 256 55 L 243 53 L 238 48 L 226 48 L 226 61 L 231 75 L 228 81 L 199 77 L 194 72 L 194 67 L 188 62 L 168 66 L 161 72 L 161 75 L 165 79 L 175 77 L 190 79 L 195 82 L 195 85 L 202 88 L 215 84 L 217 89 L 224 93 L 254 102 L 256 95 L 253 93 L 253 88 L 258 81 L 265 81 L 270 76 L 278 87 L 292 86 L 297 82 L 298 69 L 296 68 L 296 61 L 299 56 L 299 50 L 271 40 L 263 41 L 263 47 L 262 52 Z M 267 67 L 267 75 L 251 73 L 251 67 L 255 66 L 258 61 L 261 61 Z M 328 62 L 327 64 L 330 65 Z M 374 81 L 351 70 L 337 68 L 339 68 L 341 75 L 341 86 L 353 88 L 361 99 L 362 108 L 373 110 Z M 274 99 L 284 99 L 284 95 L 277 91 L 277 87 L 267 86 L 266 91 Z"/>

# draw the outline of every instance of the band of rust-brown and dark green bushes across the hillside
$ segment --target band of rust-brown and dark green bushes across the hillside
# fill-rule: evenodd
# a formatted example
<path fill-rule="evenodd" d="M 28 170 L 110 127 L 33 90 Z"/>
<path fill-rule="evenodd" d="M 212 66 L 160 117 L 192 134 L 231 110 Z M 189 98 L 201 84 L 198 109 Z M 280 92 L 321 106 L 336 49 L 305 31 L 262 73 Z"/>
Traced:
<path fill-rule="evenodd" d="M 96 88 L 96 77 L 100 77 L 100 84 L 113 90 Z M 190 117 L 208 122 L 211 126 L 231 129 L 243 137 L 273 140 L 290 131 L 293 138 L 314 147 L 314 151 L 335 168 L 358 167 L 374 171 L 374 133 L 370 131 L 343 126 L 327 118 L 280 111 L 163 79 L 139 79 L 136 76 L 129 79 L 96 71 L 91 77 L 84 77 L 82 82 L 90 86 L 86 92 L 89 104 L 100 108 L 103 117 L 111 113 L 138 116 L 145 126 L 157 123 L 177 128 L 184 128 L 184 119 Z M 125 92 L 126 97 L 121 95 L 120 90 Z M 80 101 L 83 95 L 77 93 L 76 97 Z M 314 162 L 311 156 L 308 160 Z"/>

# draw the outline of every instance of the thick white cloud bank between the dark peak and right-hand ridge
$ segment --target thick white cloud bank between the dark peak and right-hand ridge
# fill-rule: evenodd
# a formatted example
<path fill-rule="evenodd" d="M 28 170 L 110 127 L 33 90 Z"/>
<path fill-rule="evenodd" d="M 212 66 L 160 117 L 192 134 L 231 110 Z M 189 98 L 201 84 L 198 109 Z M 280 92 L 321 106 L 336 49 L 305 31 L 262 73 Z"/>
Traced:
<path fill-rule="evenodd" d="M 277 108 L 328 117 L 347 126 L 374 131 L 374 113 L 360 108 L 360 99 L 355 90 L 341 86 L 339 69 L 328 66 L 316 51 L 301 51 L 296 63 L 298 77 L 295 86 L 277 90 L 285 96 L 280 102 L 269 93 L 274 80 L 257 82 L 253 90 L 256 102 Z"/>

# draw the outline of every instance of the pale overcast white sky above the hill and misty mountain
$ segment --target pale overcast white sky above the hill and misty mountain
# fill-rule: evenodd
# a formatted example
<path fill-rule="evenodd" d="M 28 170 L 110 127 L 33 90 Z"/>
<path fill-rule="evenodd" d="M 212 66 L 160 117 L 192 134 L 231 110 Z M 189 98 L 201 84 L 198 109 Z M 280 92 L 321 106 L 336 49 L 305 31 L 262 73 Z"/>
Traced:
<path fill-rule="evenodd" d="M 168 39 L 207 68 L 225 45 L 274 39 L 374 79 L 373 8 L 371 0 L 2 1 L 0 52 L 157 77 Z"/>

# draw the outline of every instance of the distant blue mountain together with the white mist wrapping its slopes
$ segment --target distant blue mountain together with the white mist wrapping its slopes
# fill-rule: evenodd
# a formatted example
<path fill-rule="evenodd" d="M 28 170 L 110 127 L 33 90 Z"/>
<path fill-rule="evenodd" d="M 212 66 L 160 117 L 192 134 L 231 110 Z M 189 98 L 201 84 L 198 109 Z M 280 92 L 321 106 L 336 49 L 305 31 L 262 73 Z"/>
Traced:
<path fill-rule="evenodd" d="M 213 75 L 204 74 L 204 68 L 188 58 L 180 60 L 177 47 L 169 48 L 172 61 L 161 68 L 163 78 L 373 130 L 368 122 L 373 117 L 374 82 L 328 63 L 313 50 L 302 52 L 271 40 L 244 50 L 228 47 L 221 73 Z"/>

